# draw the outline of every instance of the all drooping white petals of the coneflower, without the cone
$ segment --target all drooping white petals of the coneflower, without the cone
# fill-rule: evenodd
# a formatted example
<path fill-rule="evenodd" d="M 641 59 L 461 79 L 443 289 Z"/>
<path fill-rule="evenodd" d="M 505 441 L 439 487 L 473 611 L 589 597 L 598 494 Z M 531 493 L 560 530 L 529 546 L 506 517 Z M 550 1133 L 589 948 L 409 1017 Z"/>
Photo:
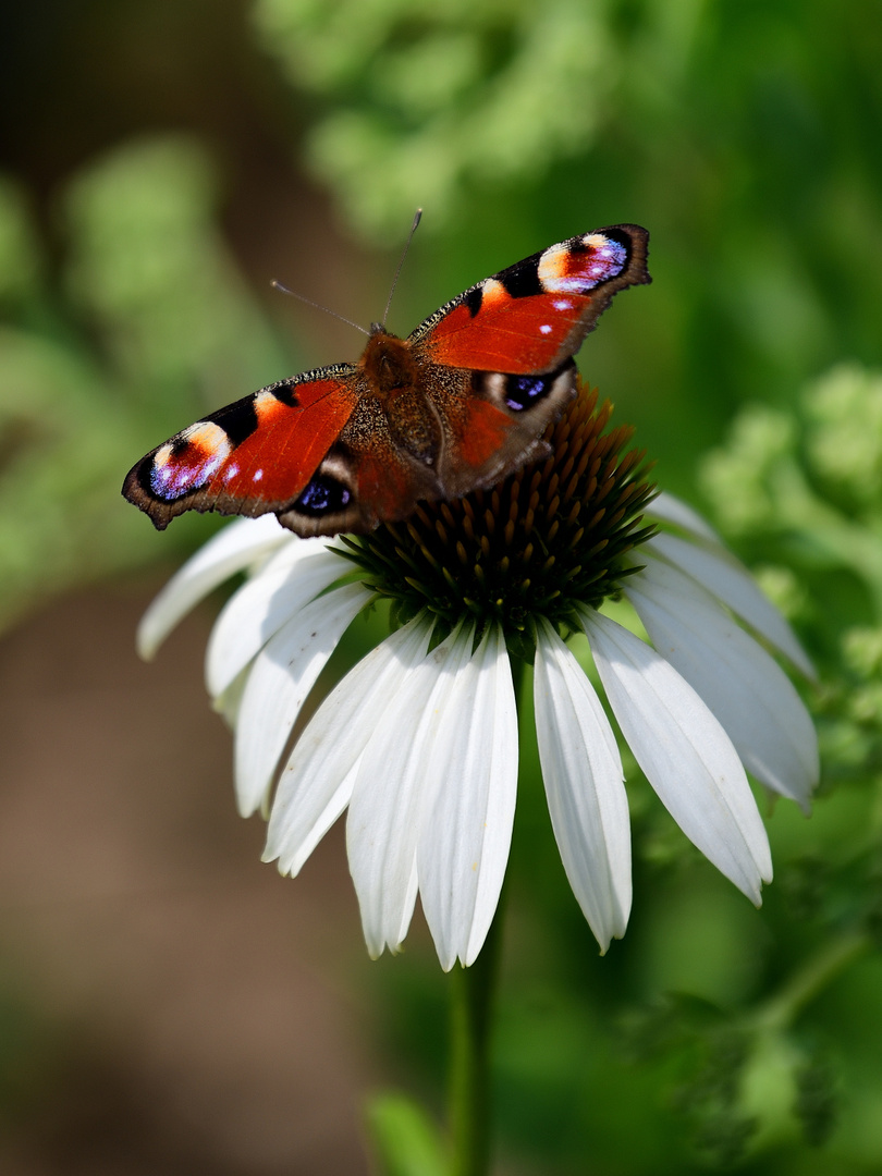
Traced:
<path fill-rule="evenodd" d="M 646 512 L 688 528 L 634 560 L 626 594 L 653 647 L 595 609 L 579 617 L 609 707 L 647 779 L 686 835 L 748 897 L 771 878 L 766 830 L 744 768 L 807 808 L 817 747 L 799 695 L 736 613 L 810 671 L 779 613 L 688 508 L 662 495 Z M 212 634 L 209 691 L 238 680 L 235 780 L 243 815 L 272 804 L 266 860 L 295 875 L 349 808 L 347 847 L 368 949 L 400 948 L 417 889 L 443 968 L 476 957 L 508 860 L 517 717 L 500 626 L 474 648 L 460 624 L 429 652 L 420 614 L 325 699 L 289 756 L 300 709 L 348 623 L 372 599 L 330 586 L 352 566 L 325 540 L 275 519 L 241 520 L 178 573 L 143 619 L 152 655 L 196 600 L 249 570 Z M 329 589 L 330 590 L 327 590 Z M 630 910 L 630 833 L 621 760 L 606 711 L 547 620 L 536 634 L 535 719 L 555 837 L 601 949 Z M 281 770 L 280 770 L 281 769 Z"/>

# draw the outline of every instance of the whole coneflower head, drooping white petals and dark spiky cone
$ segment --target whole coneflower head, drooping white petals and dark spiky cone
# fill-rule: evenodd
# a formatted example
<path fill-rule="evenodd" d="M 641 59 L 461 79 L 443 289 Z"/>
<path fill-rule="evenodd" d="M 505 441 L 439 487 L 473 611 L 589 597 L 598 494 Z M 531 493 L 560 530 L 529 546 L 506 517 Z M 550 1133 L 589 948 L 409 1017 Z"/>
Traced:
<path fill-rule="evenodd" d="M 445 969 L 481 949 L 515 810 L 513 656 L 534 661 L 540 761 L 570 886 L 602 950 L 624 933 L 622 766 L 566 643 L 574 633 L 587 636 L 609 708 L 662 803 L 753 902 L 771 860 L 744 769 L 808 806 L 818 770 L 811 721 L 739 621 L 810 675 L 804 654 L 707 524 L 667 495 L 653 499 L 640 455 L 623 452 L 630 430 L 607 432 L 609 414 L 583 389 L 549 428 L 546 461 L 368 536 L 300 540 L 273 516 L 234 523 L 143 620 L 149 656 L 199 597 L 248 573 L 207 659 L 208 689 L 235 728 L 239 807 L 250 814 L 272 801 L 266 858 L 292 875 L 348 807 L 373 956 L 400 947 L 417 890 Z M 621 595 L 652 644 L 600 612 Z M 383 597 L 397 627 L 286 755 L 346 628 Z"/>

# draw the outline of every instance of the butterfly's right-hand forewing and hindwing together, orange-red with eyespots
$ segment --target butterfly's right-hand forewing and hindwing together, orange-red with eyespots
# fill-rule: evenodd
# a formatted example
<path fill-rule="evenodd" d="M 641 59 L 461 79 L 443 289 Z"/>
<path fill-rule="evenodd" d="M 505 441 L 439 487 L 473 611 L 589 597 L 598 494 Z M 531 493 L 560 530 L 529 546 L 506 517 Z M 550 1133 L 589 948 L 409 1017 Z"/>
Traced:
<path fill-rule="evenodd" d="M 485 279 L 410 335 L 427 390 L 445 400 L 448 496 L 489 486 L 541 455 L 541 434 L 575 390 L 573 355 L 613 296 L 649 282 L 649 234 L 595 229 Z M 450 368 L 469 373 L 450 395 Z"/>

